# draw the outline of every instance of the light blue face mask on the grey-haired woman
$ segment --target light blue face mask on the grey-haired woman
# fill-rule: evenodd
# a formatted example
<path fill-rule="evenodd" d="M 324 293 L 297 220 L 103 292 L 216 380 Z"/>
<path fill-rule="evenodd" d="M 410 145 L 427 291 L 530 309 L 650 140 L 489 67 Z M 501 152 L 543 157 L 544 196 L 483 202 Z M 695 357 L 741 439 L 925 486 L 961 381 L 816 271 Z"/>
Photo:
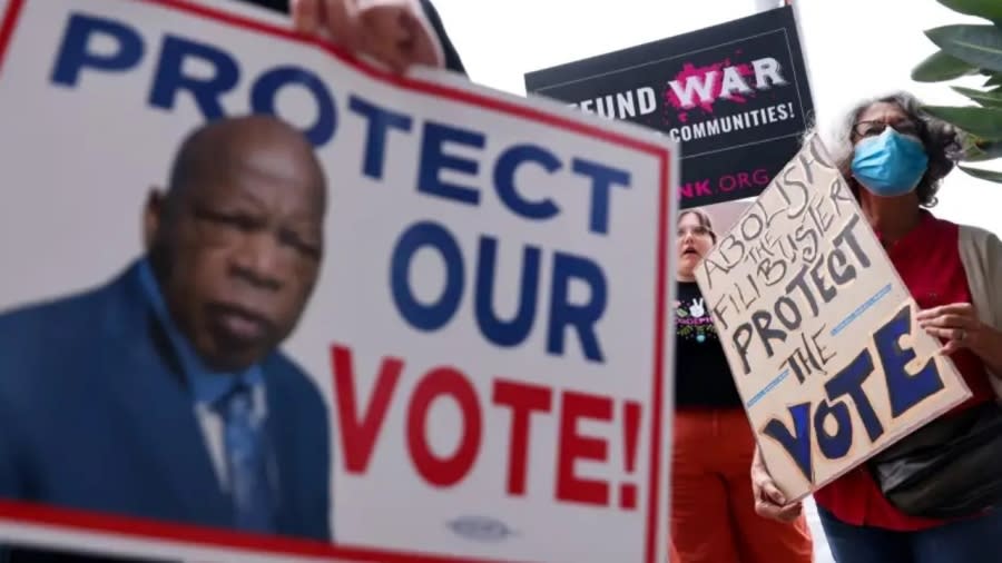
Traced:
<path fill-rule="evenodd" d="M 877 137 L 856 145 L 853 176 L 871 194 L 882 197 L 903 196 L 918 186 L 929 166 L 922 142 L 887 127 Z"/>

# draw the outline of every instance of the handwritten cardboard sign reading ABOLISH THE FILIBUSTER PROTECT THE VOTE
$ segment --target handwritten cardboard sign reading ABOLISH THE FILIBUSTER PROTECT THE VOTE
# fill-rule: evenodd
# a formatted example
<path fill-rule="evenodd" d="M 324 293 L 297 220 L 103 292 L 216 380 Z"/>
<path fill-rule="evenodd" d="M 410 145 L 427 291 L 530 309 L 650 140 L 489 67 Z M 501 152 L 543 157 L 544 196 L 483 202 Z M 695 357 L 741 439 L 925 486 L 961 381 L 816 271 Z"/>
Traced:
<path fill-rule="evenodd" d="M 971 396 L 816 136 L 696 277 L 788 498 Z"/>

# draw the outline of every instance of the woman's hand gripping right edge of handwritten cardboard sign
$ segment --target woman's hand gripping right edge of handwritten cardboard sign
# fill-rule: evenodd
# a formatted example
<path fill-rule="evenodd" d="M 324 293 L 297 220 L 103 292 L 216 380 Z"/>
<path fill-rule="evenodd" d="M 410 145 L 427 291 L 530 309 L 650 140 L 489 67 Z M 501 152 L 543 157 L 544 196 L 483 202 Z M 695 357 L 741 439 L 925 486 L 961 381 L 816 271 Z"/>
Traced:
<path fill-rule="evenodd" d="M 985 363 L 989 371 L 1002 374 L 1002 333 L 982 323 L 970 303 L 921 310 L 915 318 L 931 336 L 946 340 L 941 350 L 943 354 L 967 348 Z"/>

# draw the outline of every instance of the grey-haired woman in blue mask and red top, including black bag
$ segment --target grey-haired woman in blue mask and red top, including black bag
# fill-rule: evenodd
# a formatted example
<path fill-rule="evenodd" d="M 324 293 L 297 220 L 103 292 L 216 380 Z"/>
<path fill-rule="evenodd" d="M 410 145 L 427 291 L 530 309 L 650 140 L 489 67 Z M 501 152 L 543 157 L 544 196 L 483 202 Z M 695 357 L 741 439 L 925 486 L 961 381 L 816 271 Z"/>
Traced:
<path fill-rule="evenodd" d="M 1000 561 L 1002 536 L 1002 241 L 939 219 L 941 180 L 961 140 L 911 95 L 859 103 L 833 147 L 856 200 L 943 342 L 973 396 L 870 462 L 815 492 L 838 563 Z M 756 510 L 777 520 L 795 506 L 756 455 Z"/>

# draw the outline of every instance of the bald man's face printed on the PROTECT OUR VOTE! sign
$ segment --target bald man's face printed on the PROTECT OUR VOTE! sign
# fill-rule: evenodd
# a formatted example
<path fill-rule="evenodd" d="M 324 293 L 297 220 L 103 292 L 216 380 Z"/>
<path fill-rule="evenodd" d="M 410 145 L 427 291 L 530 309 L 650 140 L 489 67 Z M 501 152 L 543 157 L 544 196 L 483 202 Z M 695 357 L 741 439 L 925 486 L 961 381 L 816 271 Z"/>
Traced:
<path fill-rule="evenodd" d="M 216 369 L 245 368 L 288 336 L 323 250 L 323 178 L 313 161 L 287 145 L 245 145 L 155 221 L 171 314 Z"/>

